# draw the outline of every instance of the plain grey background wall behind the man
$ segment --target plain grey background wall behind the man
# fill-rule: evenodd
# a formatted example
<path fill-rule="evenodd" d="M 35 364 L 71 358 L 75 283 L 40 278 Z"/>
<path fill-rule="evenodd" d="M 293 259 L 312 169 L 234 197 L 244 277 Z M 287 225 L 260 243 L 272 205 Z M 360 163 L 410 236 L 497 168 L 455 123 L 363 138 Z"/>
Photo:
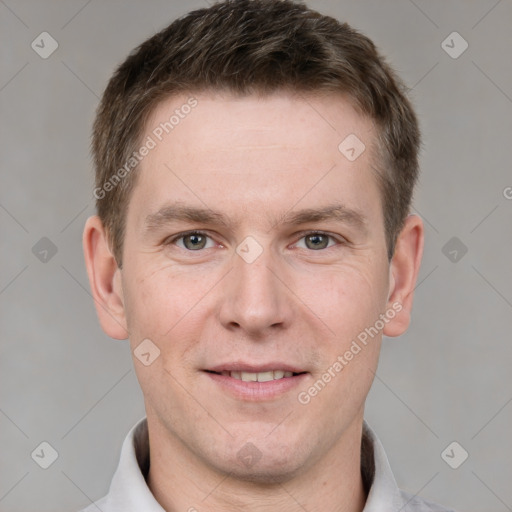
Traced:
<path fill-rule="evenodd" d="M 461 511 L 512 510 L 512 4 L 308 3 L 377 43 L 412 88 L 424 134 L 413 323 L 384 341 L 367 419 L 402 488 Z M 90 126 L 114 66 L 206 5 L 0 0 L 2 512 L 71 511 L 105 494 L 144 415 L 127 344 L 103 334 L 88 291 Z M 31 48 L 43 31 L 59 44 L 48 59 Z M 469 44 L 457 59 L 441 47 L 453 31 Z M 42 237 L 57 248 L 46 263 L 32 252 Z M 456 262 L 443 252 L 452 237 L 467 247 Z M 59 454 L 46 470 L 30 456 L 42 441 Z M 458 469 L 441 458 L 452 441 L 469 453 Z"/>

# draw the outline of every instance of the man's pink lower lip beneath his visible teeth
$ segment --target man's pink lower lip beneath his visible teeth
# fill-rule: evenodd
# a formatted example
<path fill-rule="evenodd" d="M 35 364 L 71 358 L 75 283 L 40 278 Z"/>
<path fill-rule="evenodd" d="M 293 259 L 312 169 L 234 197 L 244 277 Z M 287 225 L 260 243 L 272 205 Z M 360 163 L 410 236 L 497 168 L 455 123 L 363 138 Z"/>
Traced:
<path fill-rule="evenodd" d="M 254 402 L 277 398 L 303 384 L 304 379 L 308 376 L 307 373 L 301 373 L 293 377 L 283 377 L 267 382 L 245 382 L 227 375 L 206 371 L 204 373 L 235 398 Z"/>

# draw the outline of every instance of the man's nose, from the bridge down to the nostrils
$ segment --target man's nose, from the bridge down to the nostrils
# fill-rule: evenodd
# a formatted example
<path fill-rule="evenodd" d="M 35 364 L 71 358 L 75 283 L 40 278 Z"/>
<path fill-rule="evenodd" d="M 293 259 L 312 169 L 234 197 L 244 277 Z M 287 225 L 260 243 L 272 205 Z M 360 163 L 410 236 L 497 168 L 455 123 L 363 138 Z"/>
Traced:
<path fill-rule="evenodd" d="M 233 258 L 221 299 L 222 325 L 251 337 L 265 337 L 289 326 L 293 314 L 291 294 L 270 248 L 262 248 L 254 261 L 244 259 L 242 252 Z"/>

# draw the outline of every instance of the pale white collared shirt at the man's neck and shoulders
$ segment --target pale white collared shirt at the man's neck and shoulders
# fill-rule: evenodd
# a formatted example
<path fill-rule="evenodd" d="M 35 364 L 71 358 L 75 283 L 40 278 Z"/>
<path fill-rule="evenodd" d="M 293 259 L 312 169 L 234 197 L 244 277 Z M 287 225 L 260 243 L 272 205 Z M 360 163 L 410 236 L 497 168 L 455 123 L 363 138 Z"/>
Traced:
<path fill-rule="evenodd" d="M 398 488 L 384 448 L 366 422 L 362 445 L 361 471 L 370 489 L 363 512 L 453 512 Z M 126 436 L 109 493 L 82 512 L 165 512 L 146 484 L 148 469 L 149 437 L 143 418 Z"/>

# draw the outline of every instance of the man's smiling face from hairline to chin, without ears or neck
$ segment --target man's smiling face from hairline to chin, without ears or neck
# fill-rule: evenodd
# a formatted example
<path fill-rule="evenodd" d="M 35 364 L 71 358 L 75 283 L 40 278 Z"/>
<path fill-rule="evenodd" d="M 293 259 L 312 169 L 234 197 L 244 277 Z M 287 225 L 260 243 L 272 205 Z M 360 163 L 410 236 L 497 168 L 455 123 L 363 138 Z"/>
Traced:
<path fill-rule="evenodd" d="M 362 420 L 380 333 L 308 390 L 390 307 L 375 132 L 339 96 L 195 97 L 159 141 L 187 97 L 161 103 L 143 139 L 156 147 L 130 199 L 122 301 L 132 349 L 149 339 L 160 355 L 135 368 L 155 436 L 278 481 Z M 351 134 L 355 160 L 362 146 L 338 149 Z"/>

